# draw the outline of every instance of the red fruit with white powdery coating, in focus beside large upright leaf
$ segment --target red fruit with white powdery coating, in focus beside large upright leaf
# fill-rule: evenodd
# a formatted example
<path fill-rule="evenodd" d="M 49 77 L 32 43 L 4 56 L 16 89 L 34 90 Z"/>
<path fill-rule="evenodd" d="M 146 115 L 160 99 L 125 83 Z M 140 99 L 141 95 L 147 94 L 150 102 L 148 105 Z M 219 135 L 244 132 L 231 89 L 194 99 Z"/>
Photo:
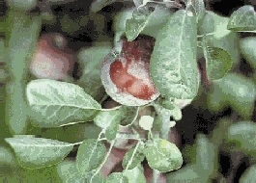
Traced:
<path fill-rule="evenodd" d="M 117 102 L 141 106 L 159 96 L 149 72 L 154 42 L 154 39 L 144 38 L 122 39 L 105 58 L 101 65 L 101 81 L 105 91 Z"/>

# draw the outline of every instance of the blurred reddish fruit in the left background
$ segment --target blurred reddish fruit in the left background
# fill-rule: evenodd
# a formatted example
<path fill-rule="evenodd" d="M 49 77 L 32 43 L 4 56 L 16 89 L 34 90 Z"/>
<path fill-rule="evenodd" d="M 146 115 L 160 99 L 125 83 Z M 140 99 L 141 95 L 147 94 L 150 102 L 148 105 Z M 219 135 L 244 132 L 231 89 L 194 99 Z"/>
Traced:
<path fill-rule="evenodd" d="M 62 35 L 45 34 L 39 39 L 30 70 L 38 78 L 62 80 L 71 72 L 74 60 Z"/>

